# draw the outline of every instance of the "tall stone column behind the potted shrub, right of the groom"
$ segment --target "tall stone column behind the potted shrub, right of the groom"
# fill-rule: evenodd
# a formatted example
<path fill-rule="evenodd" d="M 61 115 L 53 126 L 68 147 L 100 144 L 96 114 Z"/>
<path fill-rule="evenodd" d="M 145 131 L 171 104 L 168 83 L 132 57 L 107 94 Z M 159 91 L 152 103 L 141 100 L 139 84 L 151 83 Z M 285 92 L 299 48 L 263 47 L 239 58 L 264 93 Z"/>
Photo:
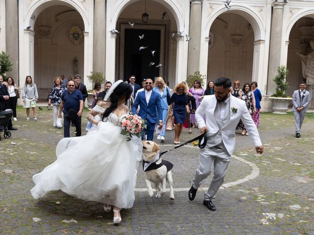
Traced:
<path fill-rule="evenodd" d="M 283 65 L 281 61 L 282 49 L 284 41 L 282 39 L 284 0 L 277 0 L 272 3 L 272 19 L 270 31 L 269 61 L 268 61 L 268 77 L 267 77 L 267 94 L 272 95 L 275 92 L 276 85 L 273 78 L 277 74 L 278 66 Z M 284 64 L 286 65 L 286 64 Z"/>

